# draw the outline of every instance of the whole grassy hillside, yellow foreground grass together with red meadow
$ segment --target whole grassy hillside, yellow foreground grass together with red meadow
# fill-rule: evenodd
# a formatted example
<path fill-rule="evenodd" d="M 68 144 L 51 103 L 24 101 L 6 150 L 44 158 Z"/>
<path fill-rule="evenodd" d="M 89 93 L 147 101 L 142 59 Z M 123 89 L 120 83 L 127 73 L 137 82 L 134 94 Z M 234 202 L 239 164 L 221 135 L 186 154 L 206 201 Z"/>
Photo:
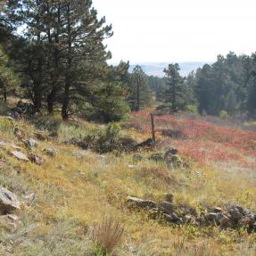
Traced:
<path fill-rule="evenodd" d="M 144 141 L 150 136 L 148 113 L 132 114 L 120 123 L 120 134 Z M 139 150 L 143 160 L 135 161 L 134 153 L 99 154 L 94 147 L 78 147 L 78 140 L 105 129 L 102 125 L 63 123 L 58 117 L 1 117 L 1 141 L 20 146 L 27 155 L 31 152 L 22 139 L 37 139 L 38 131 L 47 139 L 37 139 L 33 150 L 44 159 L 41 166 L 17 160 L 10 145 L 0 147 L 0 184 L 21 201 L 15 225 L 1 226 L 0 254 L 103 255 L 92 243 L 90 230 L 107 217 L 124 228 L 115 255 L 255 255 L 256 234 L 243 227 L 169 224 L 130 208 L 127 197 L 161 202 L 171 193 L 176 204 L 198 212 L 227 204 L 256 212 L 256 132 L 182 115 L 156 117 L 155 122 L 156 148 Z M 174 146 L 188 169 L 169 169 L 164 162 L 148 160 L 152 153 Z M 49 156 L 44 150 L 49 148 L 56 155 Z"/>

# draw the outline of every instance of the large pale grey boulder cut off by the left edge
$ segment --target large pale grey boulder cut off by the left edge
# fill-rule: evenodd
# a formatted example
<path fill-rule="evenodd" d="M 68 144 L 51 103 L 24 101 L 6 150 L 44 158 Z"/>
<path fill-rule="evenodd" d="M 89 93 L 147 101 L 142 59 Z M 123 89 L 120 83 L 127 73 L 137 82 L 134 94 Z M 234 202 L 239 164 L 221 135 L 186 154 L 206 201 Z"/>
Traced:
<path fill-rule="evenodd" d="M 0 186 L 0 211 L 10 213 L 20 209 L 21 206 L 17 196 L 3 186 Z"/>

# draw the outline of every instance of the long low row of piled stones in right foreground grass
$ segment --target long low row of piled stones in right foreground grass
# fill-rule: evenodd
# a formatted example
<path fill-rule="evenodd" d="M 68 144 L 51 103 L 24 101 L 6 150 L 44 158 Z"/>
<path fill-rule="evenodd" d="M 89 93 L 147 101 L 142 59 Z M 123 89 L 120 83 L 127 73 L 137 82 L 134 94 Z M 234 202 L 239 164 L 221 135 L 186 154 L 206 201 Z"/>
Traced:
<path fill-rule="evenodd" d="M 256 215 L 238 205 L 230 205 L 225 209 L 216 207 L 198 214 L 190 206 L 176 205 L 172 194 L 167 194 L 164 201 L 160 203 L 132 196 L 128 196 L 127 202 L 131 207 L 148 211 L 152 219 L 164 219 L 169 223 L 190 224 L 197 227 L 244 227 L 249 232 L 256 232 Z"/>

